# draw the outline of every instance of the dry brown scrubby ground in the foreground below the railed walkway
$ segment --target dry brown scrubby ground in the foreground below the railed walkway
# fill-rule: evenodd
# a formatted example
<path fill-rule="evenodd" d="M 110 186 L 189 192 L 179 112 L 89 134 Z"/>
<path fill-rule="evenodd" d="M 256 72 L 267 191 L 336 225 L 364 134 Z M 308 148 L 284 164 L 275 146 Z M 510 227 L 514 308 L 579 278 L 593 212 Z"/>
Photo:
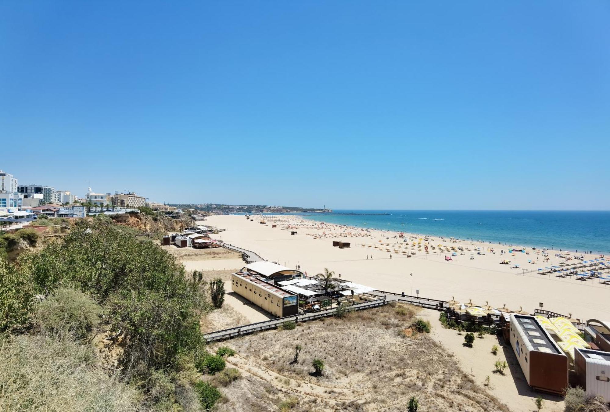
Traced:
<path fill-rule="evenodd" d="M 419 400 L 419 411 L 509 410 L 427 333 L 406 337 L 418 309 L 399 307 L 211 345 L 234 349 L 227 366 L 242 373 L 222 389 L 226 399 L 218 410 L 403 411 L 411 396 Z M 293 363 L 296 344 L 303 349 Z M 325 363 L 321 377 L 313 374 L 314 358 Z"/>

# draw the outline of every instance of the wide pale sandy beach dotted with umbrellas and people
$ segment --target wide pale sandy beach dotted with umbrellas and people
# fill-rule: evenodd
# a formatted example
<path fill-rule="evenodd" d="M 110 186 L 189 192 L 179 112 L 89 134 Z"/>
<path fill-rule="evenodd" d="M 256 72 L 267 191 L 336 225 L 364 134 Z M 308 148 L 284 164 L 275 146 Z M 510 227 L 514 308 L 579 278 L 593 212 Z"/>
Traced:
<path fill-rule="evenodd" d="M 204 224 L 226 229 L 212 235 L 215 238 L 253 250 L 281 265 L 291 268 L 300 265 L 301 271 L 309 275 L 328 268 L 340 274 L 342 279 L 386 291 L 415 294 L 418 290 L 423 297 L 450 300 L 454 296 L 460 302 L 472 299 L 479 305 L 489 302 L 494 307 L 501 307 L 506 304 L 512 310 L 523 307 L 529 312 L 539 308 L 542 302 L 545 310 L 572 313 L 574 318 L 583 321 L 610 318 L 607 305 L 610 285 L 600 284 L 599 280 L 578 281 L 575 276 L 561 278 L 537 273 L 537 268 L 578 262 L 556 257 L 558 250 L 548 250 L 546 261 L 541 250 L 531 247 L 523 253 L 508 254 L 509 247 L 498 244 L 450 241 L 437 236 L 426 239 L 409 233 L 404 233 L 407 240 L 404 241 L 397 232 L 328 224 L 301 216 L 252 218 L 254 221 L 243 215 L 209 216 Z M 260 220 L 267 224 L 260 224 Z M 272 228 L 272 224 L 277 227 Z M 295 230 L 296 235 L 291 235 L 291 230 Z M 420 238 L 422 241 L 418 243 Z M 333 247 L 332 240 L 351 242 L 351 247 Z M 425 253 L 426 243 L 428 254 Z M 376 249 L 373 245 L 382 246 Z M 454 252 L 451 247 L 455 248 L 456 256 L 451 256 Z M 478 247 L 483 248 L 484 255 L 477 254 Z M 493 248 L 493 252 L 488 248 Z M 408 250 L 409 254 L 414 251 L 415 255 L 407 258 L 403 250 Z M 505 253 L 501 254 L 501 250 Z M 453 260 L 445 261 L 445 256 Z M 584 255 L 585 260 L 595 257 L 598 255 Z M 511 264 L 500 265 L 504 259 Z M 515 265 L 519 268 L 513 269 Z"/>

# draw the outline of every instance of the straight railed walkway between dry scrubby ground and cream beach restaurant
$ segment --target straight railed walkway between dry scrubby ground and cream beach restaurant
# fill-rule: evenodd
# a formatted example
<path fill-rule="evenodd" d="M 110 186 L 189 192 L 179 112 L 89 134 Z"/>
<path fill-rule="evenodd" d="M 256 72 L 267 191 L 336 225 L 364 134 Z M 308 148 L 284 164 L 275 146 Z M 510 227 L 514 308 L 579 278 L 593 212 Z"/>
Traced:
<path fill-rule="evenodd" d="M 389 304 L 389 301 L 386 299 L 376 299 L 370 300 L 369 302 L 362 302 L 361 304 L 351 305 L 352 310 L 363 310 L 368 308 L 374 308 L 378 306 L 383 306 Z M 327 316 L 332 316 L 337 311 L 337 308 L 327 309 L 320 312 L 315 313 L 305 313 L 305 314 L 295 314 L 291 316 L 284 316 L 283 318 L 270 319 L 268 321 L 262 322 L 254 322 L 248 325 L 242 325 L 238 327 L 233 327 L 229 329 L 217 330 L 215 332 L 210 332 L 204 334 L 204 338 L 208 342 L 220 341 L 223 339 L 235 338 L 237 336 L 248 335 L 249 333 L 258 332 L 259 330 L 267 330 L 278 327 L 287 321 L 294 322 L 307 322 L 313 321 L 314 319 L 325 318 Z M 220 335 L 218 335 L 220 333 Z"/>

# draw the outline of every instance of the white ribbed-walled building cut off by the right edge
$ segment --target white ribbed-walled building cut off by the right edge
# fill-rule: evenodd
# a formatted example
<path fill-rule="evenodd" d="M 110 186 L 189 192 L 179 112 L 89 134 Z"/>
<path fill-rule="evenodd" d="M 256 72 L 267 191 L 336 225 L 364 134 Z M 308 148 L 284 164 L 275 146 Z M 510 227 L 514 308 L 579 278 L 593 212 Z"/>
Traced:
<path fill-rule="evenodd" d="M 574 350 L 574 371 L 578 385 L 587 394 L 598 395 L 610 402 L 610 353 L 600 350 Z"/>

